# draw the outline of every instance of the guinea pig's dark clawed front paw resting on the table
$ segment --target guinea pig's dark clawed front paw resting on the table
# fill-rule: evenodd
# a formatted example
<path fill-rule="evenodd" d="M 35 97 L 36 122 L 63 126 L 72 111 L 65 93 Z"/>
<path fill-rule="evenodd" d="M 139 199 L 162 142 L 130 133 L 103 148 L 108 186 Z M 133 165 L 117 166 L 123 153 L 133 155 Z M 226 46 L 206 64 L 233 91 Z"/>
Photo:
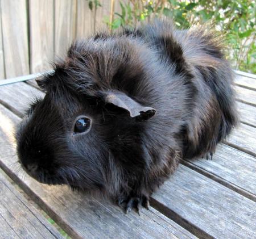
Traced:
<path fill-rule="evenodd" d="M 125 208 L 125 213 L 129 213 L 131 209 L 135 208 L 139 216 L 141 216 L 141 207 L 147 208 L 149 205 L 148 196 L 120 196 L 118 198 L 118 206 Z"/>

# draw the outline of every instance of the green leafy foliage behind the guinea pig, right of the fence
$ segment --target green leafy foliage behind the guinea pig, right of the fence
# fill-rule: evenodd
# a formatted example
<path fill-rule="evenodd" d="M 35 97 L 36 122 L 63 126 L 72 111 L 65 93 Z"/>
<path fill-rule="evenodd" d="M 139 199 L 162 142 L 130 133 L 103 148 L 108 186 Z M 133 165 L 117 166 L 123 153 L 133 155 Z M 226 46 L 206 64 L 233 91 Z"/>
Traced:
<path fill-rule="evenodd" d="M 256 6 L 252 0 L 127 0 L 119 5 L 112 22 L 106 20 L 111 31 L 162 16 L 173 19 L 177 28 L 210 22 L 225 35 L 233 68 L 256 73 Z"/>

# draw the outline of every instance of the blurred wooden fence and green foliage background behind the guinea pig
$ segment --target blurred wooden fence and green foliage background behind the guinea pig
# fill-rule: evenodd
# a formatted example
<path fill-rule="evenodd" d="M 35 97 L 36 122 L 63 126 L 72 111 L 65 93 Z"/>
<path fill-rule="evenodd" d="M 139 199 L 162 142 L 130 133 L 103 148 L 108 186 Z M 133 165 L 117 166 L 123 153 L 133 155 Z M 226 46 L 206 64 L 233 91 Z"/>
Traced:
<path fill-rule="evenodd" d="M 77 37 L 162 16 L 177 28 L 210 22 L 234 69 L 256 73 L 254 1 L 0 0 L 0 79 L 43 72 Z"/>

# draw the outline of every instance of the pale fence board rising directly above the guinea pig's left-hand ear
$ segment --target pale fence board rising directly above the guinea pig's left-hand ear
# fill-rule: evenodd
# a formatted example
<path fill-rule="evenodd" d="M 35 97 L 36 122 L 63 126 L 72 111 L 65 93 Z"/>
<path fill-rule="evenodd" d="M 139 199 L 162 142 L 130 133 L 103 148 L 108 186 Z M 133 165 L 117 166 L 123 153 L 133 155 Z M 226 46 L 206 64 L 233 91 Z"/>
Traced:
<path fill-rule="evenodd" d="M 50 68 L 54 59 L 53 0 L 30 0 L 31 73 Z"/>

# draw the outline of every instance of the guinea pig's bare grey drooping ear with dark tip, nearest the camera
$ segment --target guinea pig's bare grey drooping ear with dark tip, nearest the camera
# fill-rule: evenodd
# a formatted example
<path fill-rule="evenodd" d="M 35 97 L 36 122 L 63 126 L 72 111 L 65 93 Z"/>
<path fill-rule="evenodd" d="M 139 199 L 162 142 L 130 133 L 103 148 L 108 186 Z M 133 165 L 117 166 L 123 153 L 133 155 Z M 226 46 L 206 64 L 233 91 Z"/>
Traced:
<path fill-rule="evenodd" d="M 123 108 L 129 112 L 131 118 L 135 118 L 137 120 L 147 120 L 155 115 L 156 110 L 154 108 L 142 106 L 120 91 L 109 90 L 101 92 L 101 95 L 105 103 L 114 104 L 114 106 Z"/>

